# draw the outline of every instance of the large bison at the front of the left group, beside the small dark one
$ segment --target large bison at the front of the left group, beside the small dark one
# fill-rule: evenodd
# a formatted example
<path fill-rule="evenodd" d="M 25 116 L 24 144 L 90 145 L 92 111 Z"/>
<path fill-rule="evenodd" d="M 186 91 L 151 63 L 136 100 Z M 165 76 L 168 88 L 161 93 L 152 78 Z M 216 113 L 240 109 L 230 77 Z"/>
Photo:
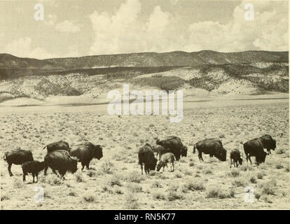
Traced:
<path fill-rule="evenodd" d="M 61 177 L 64 179 L 64 174 L 68 171 L 73 173 L 78 169 L 78 161 L 75 158 L 71 158 L 71 155 L 67 151 L 58 150 L 48 153 L 44 158 L 44 163 L 46 165 L 46 169 L 44 169 L 44 175 L 48 171 L 48 167 L 53 169 L 53 173 L 57 174 L 55 170 L 57 170 Z"/>

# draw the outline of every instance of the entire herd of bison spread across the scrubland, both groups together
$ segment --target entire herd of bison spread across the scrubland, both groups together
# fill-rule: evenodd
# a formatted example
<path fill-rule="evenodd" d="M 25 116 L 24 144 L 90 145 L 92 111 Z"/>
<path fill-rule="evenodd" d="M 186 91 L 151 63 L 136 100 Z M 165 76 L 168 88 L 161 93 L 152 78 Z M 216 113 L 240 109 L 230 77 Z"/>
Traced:
<path fill-rule="evenodd" d="M 275 150 L 276 141 L 269 134 L 265 134 L 260 138 L 245 142 L 243 146 L 247 162 L 248 160 L 251 162 L 251 157 L 254 156 L 257 165 L 259 165 L 261 162 L 265 162 L 265 157 L 271 153 L 271 150 Z M 54 174 L 58 172 L 60 177 L 64 179 L 64 175 L 67 172 L 76 172 L 78 162 L 81 162 L 81 170 L 83 171 L 84 167 L 90 169 L 90 161 L 93 158 L 100 160 L 103 157 L 102 146 L 94 145 L 89 141 L 76 144 L 71 146 L 71 148 L 66 141 L 57 141 L 48 144 L 44 148 L 46 148 L 47 154 L 43 162 L 34 160 L 31 151 L 18 149 L 5 153 L 4 160 L 8 163 L 9 175 L 13 176 L 11 166 L 15 164 L 22 165 L 23 181 L 26 181 L 25 176 L 27 174 L 32 174 L 33 182 L 35 176 L 37 182 L 39 172 L 44 169 L 44 175 L 46 175 L 48 167 L 53 170 Z M 268 153 L 264 151 L 264 148 L 267 149 Z M 174 172 L 174 161 L 180 160 L 181 157 L 186 157 L 187 151 L 188 148 L 182 144 L 181 139 L 175 136 L 167 137 L 163 140 L 158 139 L 155 146 L 147 143 L 138 152 L 141 174 L 143 174 L 143 165 L 146 174 L 155 169 L 160 171 L 163 168 L 164 171 L 167 164 L 170 165 L 170 172 Z M 209 154 L 210 157 L 215 157 L 220 161 L 226 161 L 227 151 L 223 148 L 223 144 L 219 139 L 198 141 L 193 146 L 193 153 L 195 151 L 198 151 L 198 158 L 201 161 L 203 161 L 202 153 Z M 230 167 L 232 164 L 234 167 L 239 164 L 242 165 L 241 153 L 237 148 L 230 151 Z"/>

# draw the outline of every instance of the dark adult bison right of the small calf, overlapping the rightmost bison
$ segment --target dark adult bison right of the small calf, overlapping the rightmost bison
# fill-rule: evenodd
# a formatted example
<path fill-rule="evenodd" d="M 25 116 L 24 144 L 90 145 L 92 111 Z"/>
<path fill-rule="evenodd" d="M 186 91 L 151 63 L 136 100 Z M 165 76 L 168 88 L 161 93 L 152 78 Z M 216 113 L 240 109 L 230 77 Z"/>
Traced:
<path fill-rule="evenodd" d="M 244 154 L 246 154 L 247 162 L 248 160 L 251 162 L 251 156 L 254 156 L 256 158 L 257 165 L 261 162 L 265 162 L 267 155 L 260 139 L 251 139 L 244 143 Z"/>

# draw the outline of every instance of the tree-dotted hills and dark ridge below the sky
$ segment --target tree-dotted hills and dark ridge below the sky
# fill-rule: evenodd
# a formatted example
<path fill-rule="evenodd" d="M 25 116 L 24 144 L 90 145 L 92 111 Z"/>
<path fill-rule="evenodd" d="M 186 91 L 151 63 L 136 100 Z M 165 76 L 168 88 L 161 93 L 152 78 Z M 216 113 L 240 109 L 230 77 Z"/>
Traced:
<path fill-rule="evenodd" d="M 288 52 L 207 50 L 44 60 L 0 55 L 0 102 L 18 97 L 99 99 L 123 83 L 139 90 L 183 89 L 193 96 L 289 92 Z"/>

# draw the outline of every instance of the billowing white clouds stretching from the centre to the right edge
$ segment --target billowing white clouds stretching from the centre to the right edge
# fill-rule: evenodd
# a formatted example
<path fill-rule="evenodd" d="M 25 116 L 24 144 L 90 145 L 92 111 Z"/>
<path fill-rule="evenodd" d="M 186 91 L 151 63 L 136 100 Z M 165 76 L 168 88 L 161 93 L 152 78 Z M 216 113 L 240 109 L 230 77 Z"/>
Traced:
<path fill-rule="evenodd" d="M 178 1 L 175 1 L 178 3 Z M 254 21 L 244 20 L 244 4 L 233 10 L 232 18 L 193 22 L 180 31 L 178 13 L 155 6 L 147 18 L 141 18 L 141 2 L 126 0 L 115 13 L 94 11 L 89 18 L 95 32 L 91 55 L 124 52 L 172 50 L 288 50 L 287 7 L 281 3 L 254 2 Z"/>

